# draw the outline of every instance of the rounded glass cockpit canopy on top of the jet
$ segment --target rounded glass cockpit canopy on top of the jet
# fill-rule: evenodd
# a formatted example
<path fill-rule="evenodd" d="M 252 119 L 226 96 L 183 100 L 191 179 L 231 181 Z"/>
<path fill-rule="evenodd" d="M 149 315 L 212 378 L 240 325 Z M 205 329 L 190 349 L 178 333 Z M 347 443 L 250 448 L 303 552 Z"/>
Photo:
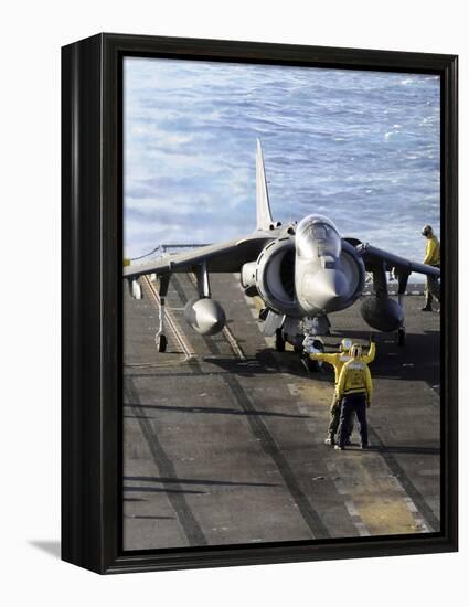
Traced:
<path fill-rule="evenodd" d="M 308 215 L 301 220 L 295 243 L 299 257 L 306 259 L 338 258 L 342 248 L 338 228 L 323 215 Z"/>

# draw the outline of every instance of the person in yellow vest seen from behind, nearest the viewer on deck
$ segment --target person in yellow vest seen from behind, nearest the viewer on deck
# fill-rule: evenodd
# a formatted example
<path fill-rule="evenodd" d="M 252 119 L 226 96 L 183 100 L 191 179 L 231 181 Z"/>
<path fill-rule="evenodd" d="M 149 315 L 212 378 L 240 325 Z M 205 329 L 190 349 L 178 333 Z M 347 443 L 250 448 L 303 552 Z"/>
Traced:
<path fill-rule="evenodd" d="M 356 414 L 360 426 L 362 449 L 369 446 L 366 407 L 371 406 L 373 383 L 369 365 L 362 360 L 362 348 L 354 343 L 350 351 L 351 360 L 340 372 L 337 395 L 341 403 L 339 437 L 335 449 L 343 450 L 348 439 L 348 428 L 353 413 Z"/>

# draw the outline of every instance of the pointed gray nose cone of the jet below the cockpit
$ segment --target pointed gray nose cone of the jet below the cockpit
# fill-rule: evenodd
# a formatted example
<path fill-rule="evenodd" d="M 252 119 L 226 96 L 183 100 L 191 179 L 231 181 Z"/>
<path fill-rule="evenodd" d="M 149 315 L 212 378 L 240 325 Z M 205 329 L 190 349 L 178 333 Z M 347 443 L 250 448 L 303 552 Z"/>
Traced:
<path fill-rule="evenodd" d="M 306 299 L 316 308 L 334 311 L 348 299 L 349 281 L 340 270 L 320 270 L 305 278 Z"/>

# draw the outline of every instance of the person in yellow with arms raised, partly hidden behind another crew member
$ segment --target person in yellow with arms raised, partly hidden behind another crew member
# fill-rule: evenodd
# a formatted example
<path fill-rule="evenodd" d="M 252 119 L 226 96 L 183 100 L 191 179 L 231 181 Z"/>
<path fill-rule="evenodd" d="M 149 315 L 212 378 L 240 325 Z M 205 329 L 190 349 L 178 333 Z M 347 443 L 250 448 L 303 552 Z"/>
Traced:
<path fill-rule="evenodd" d="M 371 334 L 370 350 L 367 354 L 362 354 L 361 360 L 370 364 L 374 361 L 376 354 L 376 344 L 374 343 L 373 333 Z M 333 446 L 335 444 L 335 434 L 339 428 L 340 419 L 340 400 L 337 396 L 337 384 L 339 382 L 340 372 L 342 371 L 343 365 L 350 361 L 350 350 L 352 348 L 352 340 L 344 338 L 339 347 L 339 352 L 333 354 L 327 354 L 326 352 L 310 353 L 309 356 L 313 361 L 322 361 L 333 366 L 334 369 L 334 392 L 332 395 L 331 403 L 331 420 L 328 428 L 328 436 L 326 437 L 326 445 Z M 347 441 L 350 443 L 350 437 L 353 432 L 353 415 L 350 416 L 350 423 L 348 426 L 348 436 Z"/>

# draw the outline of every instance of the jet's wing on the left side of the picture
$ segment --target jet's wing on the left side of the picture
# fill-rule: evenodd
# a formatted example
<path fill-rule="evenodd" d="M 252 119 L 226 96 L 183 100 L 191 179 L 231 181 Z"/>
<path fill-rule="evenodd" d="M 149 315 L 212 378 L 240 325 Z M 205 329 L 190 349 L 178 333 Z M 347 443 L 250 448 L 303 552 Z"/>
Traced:
<path fill-rule="evenodd" d="M 137 278 L 145 274 L 191 271 L 202 262 L 206 263 L 209 271 L 239 271 L 243 264 L 256 259 L 266 244 L 276 236 L 276 231 L 256 231 L 242 239 L 202 246 L 189 253 L 163 255 L 145 264 L 126 266 L 124 278 Z"/>

